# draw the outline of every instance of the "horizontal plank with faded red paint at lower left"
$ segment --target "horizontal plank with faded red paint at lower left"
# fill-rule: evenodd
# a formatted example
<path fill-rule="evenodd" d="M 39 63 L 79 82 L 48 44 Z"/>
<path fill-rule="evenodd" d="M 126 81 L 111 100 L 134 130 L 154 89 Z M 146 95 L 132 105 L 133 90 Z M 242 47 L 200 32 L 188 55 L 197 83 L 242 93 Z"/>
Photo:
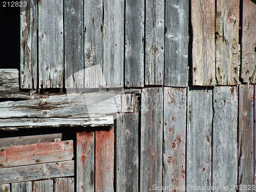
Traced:
<path fill-rule="evenodd" d="M 0 148 L 0 168 L 72 160 L 73 140 Z"/>

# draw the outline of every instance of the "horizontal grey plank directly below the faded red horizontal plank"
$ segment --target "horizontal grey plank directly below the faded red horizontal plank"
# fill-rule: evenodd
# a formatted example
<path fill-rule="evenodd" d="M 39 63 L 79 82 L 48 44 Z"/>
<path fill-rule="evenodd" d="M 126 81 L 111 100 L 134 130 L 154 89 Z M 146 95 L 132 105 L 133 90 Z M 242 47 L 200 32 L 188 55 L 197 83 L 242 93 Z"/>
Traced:
<path fill-rule="evenodd" d="M 0 168 L 0 184 L 74 176 L 74 161 Z"/>

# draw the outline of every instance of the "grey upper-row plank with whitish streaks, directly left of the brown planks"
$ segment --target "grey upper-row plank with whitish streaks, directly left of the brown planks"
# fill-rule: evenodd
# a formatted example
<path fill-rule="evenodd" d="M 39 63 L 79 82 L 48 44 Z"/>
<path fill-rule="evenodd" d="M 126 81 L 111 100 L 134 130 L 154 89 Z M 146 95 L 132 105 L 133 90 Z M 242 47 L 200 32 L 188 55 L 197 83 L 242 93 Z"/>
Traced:
<path fill-rule="evenodd" d="M 165 3 L 165 86 L 186 87 L 188 84 L 188 2 L 168 0 Z"/>

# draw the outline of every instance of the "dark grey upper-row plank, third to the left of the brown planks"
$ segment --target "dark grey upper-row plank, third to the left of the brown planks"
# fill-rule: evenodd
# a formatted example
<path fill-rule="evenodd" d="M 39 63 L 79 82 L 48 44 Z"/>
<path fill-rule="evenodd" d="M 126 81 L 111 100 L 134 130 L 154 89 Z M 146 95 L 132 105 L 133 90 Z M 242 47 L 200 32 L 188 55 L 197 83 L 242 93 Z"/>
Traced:
<path fill-rule="evenodd" d="M 144 1 L 125 2 L 125 87 L 144 86 Z"/>

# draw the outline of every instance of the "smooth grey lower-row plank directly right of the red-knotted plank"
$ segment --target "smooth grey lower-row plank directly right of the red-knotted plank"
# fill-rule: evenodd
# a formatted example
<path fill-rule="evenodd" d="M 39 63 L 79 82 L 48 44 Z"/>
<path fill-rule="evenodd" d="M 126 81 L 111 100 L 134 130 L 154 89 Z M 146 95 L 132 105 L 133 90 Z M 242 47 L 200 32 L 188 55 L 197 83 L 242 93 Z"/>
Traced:
<path fill-rule="evenodd" d="M 189 88 L 187 94 L 186 185 L 211 187 L 212 89 Z M 194 191 L 188 188 L 187 191 Z"/>

